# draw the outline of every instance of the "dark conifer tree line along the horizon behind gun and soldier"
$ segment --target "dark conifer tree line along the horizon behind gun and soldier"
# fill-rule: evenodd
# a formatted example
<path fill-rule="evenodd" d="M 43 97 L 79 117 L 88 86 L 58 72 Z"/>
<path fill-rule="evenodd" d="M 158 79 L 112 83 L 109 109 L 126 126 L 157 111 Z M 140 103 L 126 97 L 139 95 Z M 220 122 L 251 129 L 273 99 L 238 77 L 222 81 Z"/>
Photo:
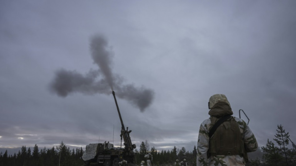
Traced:
<path fill-rule="evenodd" d="M 296 165 L 296 146 L 290 140 L 289 132 L 286 133 L 282 125 L 277 127 L 277 133 L 273 139 L 276 144 L 268 139 L 265 146 L 258 148 L 256 152 L 248 154 L 249 162 L 246 166 Z M 289 143 L 292 143 L 292 149 L 287 147 Z M 179 161 L 186 159 L 189 165 L 196 165 L 197 149 L 195 145 L 192 151 L 188 151 L 184 147 L 179 149 L 176 146 L 170 150 L 158 151 L 155 147 L 150 148 L 147 140 L 145 142 L 142 141 L 140 148 L 135 149 L 136 164 L 140 164 L 141 161 L 146 163 L 144 156 L 148 151 L 153 155 L 152 165 L 155 166 L 163 164 L 174 165 L 176 159 Z M 0 166 L 81 166 L 84 164 L 81 159 L 83 152 L 82 147 L 70 150 L 63 142 L 51 149 L 44 147 L 39 150 L 38 146 L 35 145 L 33 152 L 30 148 L 27 149 L 26 146 L 22 146 L 17 154 L 8 155 L 7 150 L 4 154 L 1 152 Z"/>

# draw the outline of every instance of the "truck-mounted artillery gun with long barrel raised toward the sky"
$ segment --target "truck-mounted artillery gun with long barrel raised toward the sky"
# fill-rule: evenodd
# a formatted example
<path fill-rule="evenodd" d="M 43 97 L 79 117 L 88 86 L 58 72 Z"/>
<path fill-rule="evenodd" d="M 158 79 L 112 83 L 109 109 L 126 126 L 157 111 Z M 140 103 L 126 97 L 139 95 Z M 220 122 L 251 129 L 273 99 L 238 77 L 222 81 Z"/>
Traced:
<path fill-rule="evenodd" d="M 84 160 L 84 164 L 86 166 L 89 165 L 97 165 L 97 166 L 118 166 L 119 162 L 122 160 L 127 161 L 127 165 L 135 164 L 135 154 L 134 149 L 136 148 L 135 144 L 131 143 L 130 133 L 131 130 L 125 129 L 123 125 L 123 121 L 121 118 L 121 114 L 119 111 L 119 107 L 117 104 L 117 100 L 115 97 L 115 92 L 112 91 L 115 104 L 117 107 L 118 115 L 121 121 L 121 142 L 122 138 L 124 140 L 124 148 L 121 147 L 113 147 L 113 144 L 105 141 L 105 143 L 94 143 L 86 145 L 86 149 L 83 153 L 82 159 Z"/>

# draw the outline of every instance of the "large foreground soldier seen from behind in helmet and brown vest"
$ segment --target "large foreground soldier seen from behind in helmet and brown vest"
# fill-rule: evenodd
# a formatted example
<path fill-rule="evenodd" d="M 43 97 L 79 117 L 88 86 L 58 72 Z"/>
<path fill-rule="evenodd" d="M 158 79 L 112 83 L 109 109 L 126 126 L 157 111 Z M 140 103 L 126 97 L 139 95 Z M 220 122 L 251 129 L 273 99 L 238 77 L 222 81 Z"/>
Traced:
<path fill-rule="evenodd" d="M 230 103 L 223 94 L 211 96 L 208 108 L 210 118 L 199 128 L 197 166 L 244 166 L 246 153 L 258 148 L 251 129 L 242 119 L 231 116 Z"/>

